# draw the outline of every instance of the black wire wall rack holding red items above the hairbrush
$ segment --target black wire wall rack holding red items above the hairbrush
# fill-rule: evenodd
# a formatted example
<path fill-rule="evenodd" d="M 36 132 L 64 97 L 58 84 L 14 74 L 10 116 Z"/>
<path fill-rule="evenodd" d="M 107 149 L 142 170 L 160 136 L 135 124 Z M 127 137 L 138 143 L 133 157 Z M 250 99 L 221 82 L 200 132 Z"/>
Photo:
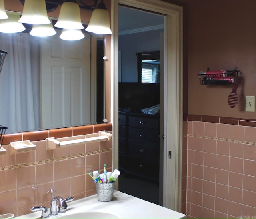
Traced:
<path fill-rule="evenodd" d="M 221 85 L 221 84 L 235 84 L 237 78 L 240 76 L 240 71 L 236 70 L 226 71 L 210 71 L 209 68 L 206 72 L 198 74 L 200 84 L 202 85 Z"/>

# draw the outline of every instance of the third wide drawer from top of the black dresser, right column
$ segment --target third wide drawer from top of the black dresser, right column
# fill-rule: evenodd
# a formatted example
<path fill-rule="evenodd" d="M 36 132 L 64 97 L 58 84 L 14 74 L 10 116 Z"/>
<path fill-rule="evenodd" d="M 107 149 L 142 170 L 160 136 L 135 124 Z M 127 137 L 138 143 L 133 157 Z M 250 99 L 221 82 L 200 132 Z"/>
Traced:
<path fill-rule="evenodd" d="M 128 155 L 134 155 L 145 159 L 159 160 L 158 145 L 128 143 Z"/>

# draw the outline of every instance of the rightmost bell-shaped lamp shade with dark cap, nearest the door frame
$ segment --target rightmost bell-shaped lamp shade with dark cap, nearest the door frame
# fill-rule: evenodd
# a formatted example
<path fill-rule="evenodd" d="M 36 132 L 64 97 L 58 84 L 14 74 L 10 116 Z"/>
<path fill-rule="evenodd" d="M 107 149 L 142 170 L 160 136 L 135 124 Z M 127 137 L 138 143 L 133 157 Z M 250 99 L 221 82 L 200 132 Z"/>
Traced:
<path fill-rule="evenodd" d="M 95 34 L 112 34 L 109 13 L 103 0 L 92 12 L 89 25 L 85 30 Z"/>

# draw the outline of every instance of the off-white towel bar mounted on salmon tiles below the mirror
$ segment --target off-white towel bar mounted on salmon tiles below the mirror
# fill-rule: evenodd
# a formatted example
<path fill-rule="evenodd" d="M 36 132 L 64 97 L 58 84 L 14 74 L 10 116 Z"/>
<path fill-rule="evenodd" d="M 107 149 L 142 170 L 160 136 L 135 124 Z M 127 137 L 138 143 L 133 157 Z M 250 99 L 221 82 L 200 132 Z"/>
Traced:
<path fill-rule="evenodd" d="M 85 135 L 83 139 L 76 139 L 70 141 L 58 141 L 54 137 L 46 138 L 46 150 L 53 150 L 58 147 L 66 147 L 71 145 L 79 145 L 83 143 L 92 143 L 97 141 L 109 141 L 112 139 L 112 134 L 106 133 L 106 131 L 99 131 L 95 134 Z"/>

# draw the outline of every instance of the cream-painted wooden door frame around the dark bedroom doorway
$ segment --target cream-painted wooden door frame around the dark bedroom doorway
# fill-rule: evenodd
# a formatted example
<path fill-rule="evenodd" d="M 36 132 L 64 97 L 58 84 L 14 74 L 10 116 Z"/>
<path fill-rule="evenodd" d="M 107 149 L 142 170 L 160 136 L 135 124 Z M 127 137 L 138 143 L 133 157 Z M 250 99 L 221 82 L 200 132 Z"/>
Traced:
<path fill-rule="evenodd" d="M 118 4 L 165 16 L 163 206 L 181 211 L 183 9 L 182 6 L 160 0 L 111 0 L 111 121 L 114 169 L 118 169 Z M 168 158 L 168 151 L 172 151 L 171 159 Z M 118 189 L 118 183 L 115 189 Z"/>

